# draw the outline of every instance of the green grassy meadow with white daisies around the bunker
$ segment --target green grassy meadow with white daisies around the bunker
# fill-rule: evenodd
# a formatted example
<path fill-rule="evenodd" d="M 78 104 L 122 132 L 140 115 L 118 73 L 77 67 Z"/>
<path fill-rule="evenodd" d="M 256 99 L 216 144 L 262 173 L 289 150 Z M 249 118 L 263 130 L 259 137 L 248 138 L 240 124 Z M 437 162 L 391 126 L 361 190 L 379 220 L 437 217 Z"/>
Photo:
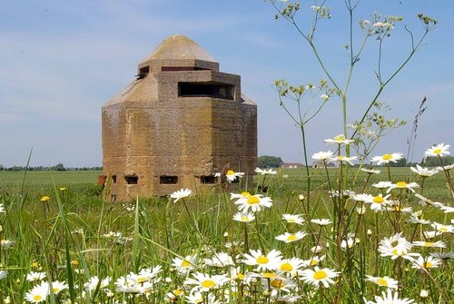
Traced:
<path fill-rule="evenodd" d="M 371 187 L 387 180 L 380 170 L 360 172 L 348 188 L 387 197 Z M 420 184 L 409 168 L 390 172 L 391 181 Z M 401 201 L 397 212 L 328 194 L 328 180 L 332 188 L 340 174 L 353 181 L 355 173 L 329 168 L 328 179 L 311 169 L 309 199 L 304 170 L 292 169 L 257 175 L 252 189 L 240 183 L 234 191 L 110 203 L 96 185 L 100 172 L 0 172 L 0 303 L 362 303 L 391 289 L 448 303 L 453 233 L 424 231 L 440 230 L 434 222 L 450 230 L 450 214 L 419 204 L 408 189 L 390 191 Z M 443 172 L 426 179 L 423 194 L 452 206 Z M 403 250 L 379 254 L 393 236 Z M 430 267 L 418 266 L 416 252 Z"/>

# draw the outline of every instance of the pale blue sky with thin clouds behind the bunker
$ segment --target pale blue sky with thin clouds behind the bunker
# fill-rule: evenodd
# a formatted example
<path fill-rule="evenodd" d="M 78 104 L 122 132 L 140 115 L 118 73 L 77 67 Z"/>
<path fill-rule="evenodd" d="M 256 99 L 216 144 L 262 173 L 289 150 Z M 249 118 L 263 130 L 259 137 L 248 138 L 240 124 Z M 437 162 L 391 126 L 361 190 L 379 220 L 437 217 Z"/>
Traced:
<path fill-rule="evenodd" d="M 316 36 L 332 74 L 344 79 L 343 49 L 348 27 L 343 1 L 327 1 L 333 17 Z M 303 10 L 313 4 L 303 1 Z M 367 0 L 356 19 L 374 11 L 403 15 L 416 36 L 416 15 L 439 20 L 419 53 L 382 94 L 389 117 L 409 124 L 380 142 L 374 154 L 407 152 L 412 118 L 428 97 L 419 123 L 415 161 L 433 143 L 454 144 L 454 20 L 451 1 Z M 242 76 L 242 93 L 259 107 L 259 155 L 301 162 L 298 129 L 279 106 L 271 86 L 277 79 L 317 83 L 324 75 L 307 44 L 283 20 L 274 20 L 262 0 L 5 1 L 0 12 L 0 164 L 97 166 L 102 163 L 101 107 L 133 80 L 137 64 L 172 34 L 185 34 L 221 65 Z M 305 16 L 301 15 L 301 23 Z M 384 73 L 390 73 L 410 48 L 400 25 L 385 45 Z M 349 118 L 363 113 L 377 90 L 377 42 L 370 40 L 352 79 Z M 341 132 L 341 103 L 332 100 L 307 125 L 309 152 L 327 150 L 322 140 Z"/>

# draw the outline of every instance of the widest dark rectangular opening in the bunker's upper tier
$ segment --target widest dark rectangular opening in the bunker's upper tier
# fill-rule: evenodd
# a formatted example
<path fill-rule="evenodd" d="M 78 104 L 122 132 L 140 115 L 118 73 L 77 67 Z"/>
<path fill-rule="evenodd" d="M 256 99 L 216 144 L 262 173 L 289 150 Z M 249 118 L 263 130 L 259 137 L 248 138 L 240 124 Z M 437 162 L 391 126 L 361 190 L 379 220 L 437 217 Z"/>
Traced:
<path fill-rule="evenodd" d="M 235 86 L 226 83 L 178 83 L 178 97 L 212 97 L 233 100 Z"/>

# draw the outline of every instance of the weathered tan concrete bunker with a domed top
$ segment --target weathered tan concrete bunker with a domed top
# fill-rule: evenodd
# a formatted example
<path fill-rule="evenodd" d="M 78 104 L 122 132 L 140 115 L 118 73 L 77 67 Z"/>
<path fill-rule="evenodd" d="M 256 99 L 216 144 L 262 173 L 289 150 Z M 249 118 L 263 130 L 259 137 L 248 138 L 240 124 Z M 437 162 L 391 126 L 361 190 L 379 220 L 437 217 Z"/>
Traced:
<path fill-rule="evenodd" d="M 113 199 L 212 187 L 226 166 L 253 175 L 257 106 L 240 76 L 174 35 L 139 64 L 139 79 L 103 106 L 103 166 Z"/>

